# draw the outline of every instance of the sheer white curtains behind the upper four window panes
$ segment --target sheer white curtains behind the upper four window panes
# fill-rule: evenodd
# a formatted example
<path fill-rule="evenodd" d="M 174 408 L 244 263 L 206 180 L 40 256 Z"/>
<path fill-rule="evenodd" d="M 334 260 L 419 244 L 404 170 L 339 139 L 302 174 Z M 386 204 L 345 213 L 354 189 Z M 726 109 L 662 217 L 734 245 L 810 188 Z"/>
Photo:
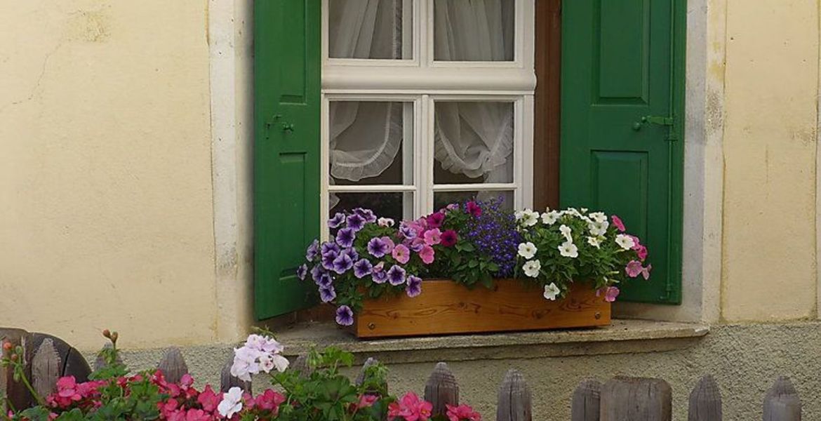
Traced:
<path fill-rule="evenodd" d="M 401 0 L 332 1 L 338 4 L 330 16 L 331 57 L 401 57 Z M 436 59 L 512 60 L 513 2 L 436 0 Z M 382 174 L 401 147 L 401 108 L 401 103 L 331 103 L 331 175 L 360 181 Z M 443 169 L 485 182 L 512 181 L 511 103 L 440 102 L 435 112 L 435 157 Z"/>

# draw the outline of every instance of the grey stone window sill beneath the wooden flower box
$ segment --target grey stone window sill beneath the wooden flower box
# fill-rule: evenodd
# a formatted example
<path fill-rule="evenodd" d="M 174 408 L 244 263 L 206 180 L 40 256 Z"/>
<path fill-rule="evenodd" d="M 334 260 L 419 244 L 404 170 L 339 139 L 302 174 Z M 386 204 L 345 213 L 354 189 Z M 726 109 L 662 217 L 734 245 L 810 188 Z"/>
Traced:
<path fill-rule="evenodd" d="M 277 333 L 277 339 L 288 344 L 286 355 L 305 353 L 311 345 L 333 345 L 352 352 L 360 363 L 374 357 L 400 364 L 679 350 L 698 343 L 709 326 L 617 319 L 609 327 L 589 329 L 358 341 L 333 323 L 304 323 Z"/>

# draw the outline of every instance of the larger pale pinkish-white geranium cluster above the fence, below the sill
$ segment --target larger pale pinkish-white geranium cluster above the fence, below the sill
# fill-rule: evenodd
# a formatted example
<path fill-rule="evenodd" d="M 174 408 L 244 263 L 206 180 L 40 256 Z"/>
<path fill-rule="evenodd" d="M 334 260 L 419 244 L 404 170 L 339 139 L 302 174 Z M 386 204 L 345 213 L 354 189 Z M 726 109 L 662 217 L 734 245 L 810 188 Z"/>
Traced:
<path fill-rule="evenodd" d="M 234 349 L 231 375 L 250 382 L 251 374 L 270 373 L 273 368 L 282 373 L 288 368 L 288 360 L 279 355 L 284 347 L 277 340 L 261 335 L 250 335 L 245 345 Z"/>

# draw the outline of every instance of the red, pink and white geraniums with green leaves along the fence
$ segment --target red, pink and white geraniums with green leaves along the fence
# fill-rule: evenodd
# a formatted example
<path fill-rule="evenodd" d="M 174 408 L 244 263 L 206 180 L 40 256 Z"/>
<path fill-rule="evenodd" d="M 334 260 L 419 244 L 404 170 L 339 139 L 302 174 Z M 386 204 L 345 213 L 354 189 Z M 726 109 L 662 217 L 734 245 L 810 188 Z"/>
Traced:
<path fill-rule="evenodd" d="M 116 339 L 114 340 L 116 341 Z M 112 342 L 114 342 L 112 341 Z M 94 374 L 94 380 L 76 382 L 73 377 L 57 380 L 57 391 L 42 398 L 25 382 L 38 405 L 16 411 L 0 411 L 5 421 L 80 421 L 103 419 L 161 419 L 169 421 L 480 421 L 468 405 L 447 405 L 445 414 L 432 414 L 433 405 L 414 392 L 401 398 L 388 394 L 387 368 L 374 364 L 365 369 L 363 380 L 353 383 L 339 373 L 350 367 L 353 355 L 334 348 L 312 351 L 308 373 L 287 370 L 289 364 L 280 353 L 283 346 L 273 336 L 250 335 L 234 350 L 232 373 L 243 379 L 268 373 L 273 388 L 256 396 L 232 387 L 218 393 L 206 385 L 196 389 L 194 378 L 184 375 L 179 382 L 168 382 L 160 371 L 135 375 L 114 375 L 117 365 L 116 344 L 101 355 L 108 368 Z M 23 369 L 21 347 L 2 345 L 0 363 Z M 110 377 L 103 378 L 107 375 Z M 2 405 L 0 405 L 2 409 Z"/>

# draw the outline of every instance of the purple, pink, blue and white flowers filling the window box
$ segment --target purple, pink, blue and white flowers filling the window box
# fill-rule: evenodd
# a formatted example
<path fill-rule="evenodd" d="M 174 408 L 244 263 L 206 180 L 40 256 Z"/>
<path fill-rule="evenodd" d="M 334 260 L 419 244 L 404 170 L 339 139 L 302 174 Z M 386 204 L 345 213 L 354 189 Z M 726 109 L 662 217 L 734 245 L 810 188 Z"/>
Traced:
<path fill-rule="evenodd" d="M 423 278 L 468 287 L 516 277 L 539 286 L 544 298 L 563 298 L 575 281 L 612 302 L 628 278 L 649 278 L 647 248 L 625 232 L 619 217 L 568 208 L 512 212 L 502 199 L 449 204 L 413 221 L 378 217 L 368 209 L 336 213 L 330 238 L 305 252 L 297 276 L 314 281 L 319 298 L 337 305 L 348 326 L 366 298 L 421 294 Z"/>

